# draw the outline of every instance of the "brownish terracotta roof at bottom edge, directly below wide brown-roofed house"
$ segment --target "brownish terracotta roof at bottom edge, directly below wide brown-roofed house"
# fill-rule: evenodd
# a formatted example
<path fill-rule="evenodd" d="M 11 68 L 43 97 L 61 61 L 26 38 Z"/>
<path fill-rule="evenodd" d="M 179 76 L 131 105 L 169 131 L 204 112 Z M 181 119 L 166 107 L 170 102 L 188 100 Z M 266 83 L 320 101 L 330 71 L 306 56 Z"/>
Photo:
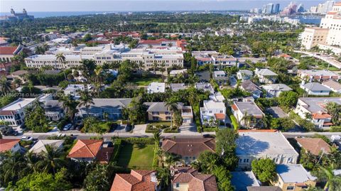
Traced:
<path fill-rule="evenodd" d="M 193 168 L 188 168 L 174 175 L 172 183 L 188 183 L 188 191 L 217 191 L 214 175 L 200 174 Z"/>

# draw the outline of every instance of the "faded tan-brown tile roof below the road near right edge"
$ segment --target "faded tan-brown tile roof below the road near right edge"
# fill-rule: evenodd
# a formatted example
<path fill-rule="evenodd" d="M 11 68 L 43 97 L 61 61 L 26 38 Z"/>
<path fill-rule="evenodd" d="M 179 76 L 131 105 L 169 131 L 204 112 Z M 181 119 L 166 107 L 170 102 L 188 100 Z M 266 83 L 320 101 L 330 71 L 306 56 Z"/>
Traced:
<path fill-rule="evenodd" d="M 296 141 L 313 155 L 318 155 L 320 152 L 330 153 L 330 145 L 323 141 L 322 138 L 296 138 Z"/>

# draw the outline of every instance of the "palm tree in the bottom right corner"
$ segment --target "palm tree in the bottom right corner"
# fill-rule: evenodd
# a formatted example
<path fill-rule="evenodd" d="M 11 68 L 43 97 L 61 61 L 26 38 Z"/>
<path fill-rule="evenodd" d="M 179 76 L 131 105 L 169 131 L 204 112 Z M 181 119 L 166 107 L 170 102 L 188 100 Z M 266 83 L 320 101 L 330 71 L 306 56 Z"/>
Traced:
<path fill-rule="evenodd" d="M 335 175 L 331 168 L 320 167 L 319 178 L 327 181 L 323 190 L 340 191 L 341 190 L 341 176 Z"/>

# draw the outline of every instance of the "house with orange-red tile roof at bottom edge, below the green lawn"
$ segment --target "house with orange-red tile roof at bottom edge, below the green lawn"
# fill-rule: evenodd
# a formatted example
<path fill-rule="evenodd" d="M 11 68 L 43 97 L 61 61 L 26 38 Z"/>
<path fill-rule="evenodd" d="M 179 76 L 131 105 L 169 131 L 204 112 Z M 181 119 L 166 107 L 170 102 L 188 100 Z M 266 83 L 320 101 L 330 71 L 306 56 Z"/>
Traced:
<path fill-rule="evenodd" d="M 158 180 L 155 170 L 131 170 L 130 174 L 116 174 L 111 191 L 154 191 Z"/>

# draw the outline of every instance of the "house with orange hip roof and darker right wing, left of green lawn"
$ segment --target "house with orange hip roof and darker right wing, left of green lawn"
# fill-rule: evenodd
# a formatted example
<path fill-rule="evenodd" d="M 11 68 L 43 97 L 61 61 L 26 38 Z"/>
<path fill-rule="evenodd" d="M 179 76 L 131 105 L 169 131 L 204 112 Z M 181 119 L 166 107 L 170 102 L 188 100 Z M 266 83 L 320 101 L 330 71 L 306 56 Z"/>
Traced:
<path fill-rule="evenodd" d="M 112 150 L 102 147 L 102 140 L 80 139 L 67 155 L 72 160 L 91 162 L 94 160 L 99 163 L 109 162 Z"/>

